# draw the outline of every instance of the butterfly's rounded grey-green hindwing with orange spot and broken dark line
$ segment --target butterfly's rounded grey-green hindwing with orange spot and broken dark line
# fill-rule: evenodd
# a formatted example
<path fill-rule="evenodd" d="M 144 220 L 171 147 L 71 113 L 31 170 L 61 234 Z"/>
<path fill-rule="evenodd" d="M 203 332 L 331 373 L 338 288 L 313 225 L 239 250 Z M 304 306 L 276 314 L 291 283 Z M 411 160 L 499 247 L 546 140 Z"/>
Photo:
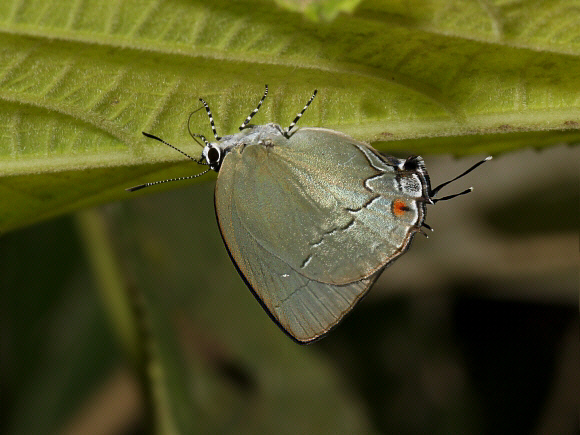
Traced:
<path fill-rule="evenodd" d="M 382 269 L 408 244 L 423 213 L 417 198 L 400 191 L 392 165 L 324 129 L 232 150 L 218 178 L 218 187 L 226 184 L 248 237 L 298 273 L 330 284 Z M 397 200 L 408 205 L 404 215 L 393 215 Z"/>

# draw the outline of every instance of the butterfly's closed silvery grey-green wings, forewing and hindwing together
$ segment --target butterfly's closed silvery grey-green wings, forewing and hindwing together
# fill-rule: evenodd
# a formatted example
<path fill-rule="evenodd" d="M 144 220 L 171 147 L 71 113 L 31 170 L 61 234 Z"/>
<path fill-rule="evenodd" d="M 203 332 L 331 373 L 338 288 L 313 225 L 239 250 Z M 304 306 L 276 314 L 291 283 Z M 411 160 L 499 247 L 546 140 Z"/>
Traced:
<path fill-rule="evenodd" d="M 317 128 L 269 135 L 225 157 L 215 197 L 222 236 L 298 341 L 336 325 L 423 222 L 423 186 L 403 162 Z"/>

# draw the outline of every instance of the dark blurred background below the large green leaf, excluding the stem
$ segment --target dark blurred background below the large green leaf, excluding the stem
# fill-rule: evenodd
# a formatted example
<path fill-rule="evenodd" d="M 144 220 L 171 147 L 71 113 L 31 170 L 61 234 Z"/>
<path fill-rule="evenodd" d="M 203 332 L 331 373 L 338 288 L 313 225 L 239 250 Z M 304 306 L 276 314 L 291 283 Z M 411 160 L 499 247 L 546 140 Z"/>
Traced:
<path fill-rule="evenodd" d="M 480 156 L 424 157 L 438 184 Z M 310 346 L 277 329 L 229 262 L 213 176 L 89 213 L 142 298 L 146 354 L 162 355 L 181 427 L 578 433 L 579 161 L 577 147 L 526 150 L 450 186 L 475 191 L 430 207 L 429 239 Z M 64 216 L 0 238 L 4 434 L 147 433 L 149 400 L 167 403 L 128 362 L 83 231 Z"/>

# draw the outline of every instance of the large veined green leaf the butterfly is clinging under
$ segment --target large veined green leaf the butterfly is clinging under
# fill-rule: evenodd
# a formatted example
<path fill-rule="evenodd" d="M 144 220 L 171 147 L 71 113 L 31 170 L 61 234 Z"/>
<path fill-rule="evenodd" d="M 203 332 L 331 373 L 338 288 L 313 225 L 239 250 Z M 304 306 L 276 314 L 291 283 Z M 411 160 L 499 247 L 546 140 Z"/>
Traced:
<path fill-rule="evenodd" d="M 317 88 L 302 125 L 382 151 L 580 141 L 577 0 L 347 3 L 312 3 L 336 16 L 314 22 L 268 1 L 1 2 L 0 231 L 199 172 L 141 131 L 199 155 L 198 98 L 232 133 L 266 83 L 256 123 L 289 124 Z M 211 137 L 203 111 L 192 126 Z"/>

